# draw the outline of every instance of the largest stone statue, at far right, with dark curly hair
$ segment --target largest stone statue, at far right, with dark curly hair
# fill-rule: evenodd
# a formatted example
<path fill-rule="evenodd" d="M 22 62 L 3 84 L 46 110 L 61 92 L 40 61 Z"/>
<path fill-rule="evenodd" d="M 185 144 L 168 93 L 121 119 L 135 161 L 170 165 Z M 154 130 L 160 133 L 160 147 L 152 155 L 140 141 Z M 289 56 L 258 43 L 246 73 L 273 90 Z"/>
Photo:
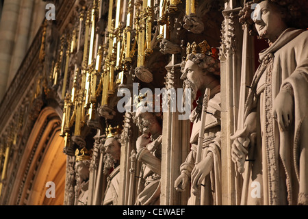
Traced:
<path fill-rule="evenodd" d="M 241 204 L 307 205 L 308 31 L 307 23 L 300 26 L 305 5 L 256 3 L 254 28 L 270 47 L 259 53 L 244 129 L 231 138 L 233 162 L 244 172 Z"/>

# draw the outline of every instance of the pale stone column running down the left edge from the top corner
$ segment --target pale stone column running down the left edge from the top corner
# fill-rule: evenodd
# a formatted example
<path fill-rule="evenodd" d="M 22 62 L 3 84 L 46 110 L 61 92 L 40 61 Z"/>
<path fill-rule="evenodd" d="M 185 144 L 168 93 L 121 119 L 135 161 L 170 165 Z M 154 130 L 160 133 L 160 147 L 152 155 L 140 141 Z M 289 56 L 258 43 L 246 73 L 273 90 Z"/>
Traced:
<path fill-rule="evenodd" d="M 3 3 L 0 22 L 0 100 L 2 100 L 7 87 L 20 6 L 20 0 L 4 1 Z"/>

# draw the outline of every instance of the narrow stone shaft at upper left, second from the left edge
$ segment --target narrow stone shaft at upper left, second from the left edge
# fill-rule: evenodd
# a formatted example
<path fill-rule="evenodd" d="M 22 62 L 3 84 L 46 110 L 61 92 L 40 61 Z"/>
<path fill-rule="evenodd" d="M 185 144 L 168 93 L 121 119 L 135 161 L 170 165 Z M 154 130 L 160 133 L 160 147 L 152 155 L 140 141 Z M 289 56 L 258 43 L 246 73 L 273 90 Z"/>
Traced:
<path fill-rule="evenodd" d="M 8 75 L 7 88 L 10 86 L 25 54 L 28 49 L 29 28 L 31 26 L 31 14 L 34 6 L 34 0 L 23 0 L 21 3 L 20 16 L 18 18 L 18 28 L 16 30 L 16 41 L 12 60 L 10 62 L 10 74 Z"/>

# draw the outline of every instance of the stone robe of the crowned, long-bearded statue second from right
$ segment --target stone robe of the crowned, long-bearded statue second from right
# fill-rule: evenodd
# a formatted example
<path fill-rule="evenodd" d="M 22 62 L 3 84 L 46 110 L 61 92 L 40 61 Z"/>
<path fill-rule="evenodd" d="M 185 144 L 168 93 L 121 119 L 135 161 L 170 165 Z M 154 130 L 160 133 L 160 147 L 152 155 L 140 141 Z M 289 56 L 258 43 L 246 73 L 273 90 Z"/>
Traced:
<path fill-rule="evenodd" d="M 196 109 L 195 109 L 196 110 Z M 198 135 L 201 129 L 201 120 L 196 119 L 195 110 L 192 111 L 191 121 L 194 125 L 190 136 L 192 151 L 181 164 L 181 173 L 185 172 L 191 178 L 191 172 L 195 166 L 196 150 L 198 145 Z M 205 118 L 205 133 L 203 138 L 202 159 L 205 159 L 209 153 L 213 157 L 213 170 L 203 180 L 201 186 L 201 205 L 221 205 L 221 162 L 220 162 L 220 93 L 209 100 L 207 114 Z M 190 194 L 192 196 L 193 194 Z M 192 205 L 192 198 L 188 200 L 188 205 Z"/>

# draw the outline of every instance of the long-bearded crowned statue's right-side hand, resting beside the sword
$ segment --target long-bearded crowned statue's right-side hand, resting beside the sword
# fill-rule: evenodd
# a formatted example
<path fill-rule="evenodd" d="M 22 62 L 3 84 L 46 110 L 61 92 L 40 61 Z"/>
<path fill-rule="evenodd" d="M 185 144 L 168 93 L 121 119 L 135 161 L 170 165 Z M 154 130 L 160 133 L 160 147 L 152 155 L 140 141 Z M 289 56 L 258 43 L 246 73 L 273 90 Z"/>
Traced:
<path fill-rule="evenodd" d="M 207 156 L 192 170 L 192 188 L 197 189 L 213 168 L 213 157 Z"/>

